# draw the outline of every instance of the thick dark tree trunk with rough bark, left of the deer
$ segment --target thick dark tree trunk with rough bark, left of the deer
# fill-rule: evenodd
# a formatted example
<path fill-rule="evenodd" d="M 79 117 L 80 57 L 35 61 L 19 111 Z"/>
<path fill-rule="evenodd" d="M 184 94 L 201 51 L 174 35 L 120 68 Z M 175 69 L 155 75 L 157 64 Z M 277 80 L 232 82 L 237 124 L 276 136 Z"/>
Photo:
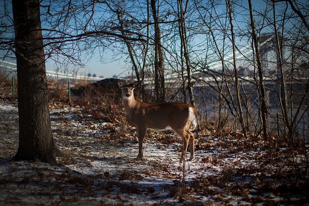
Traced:
<path fill-rule="evenodd" d="M 19 146 L 14 160 L 55 164 L 38 0 L 12 0 L 18 80 Z"/>

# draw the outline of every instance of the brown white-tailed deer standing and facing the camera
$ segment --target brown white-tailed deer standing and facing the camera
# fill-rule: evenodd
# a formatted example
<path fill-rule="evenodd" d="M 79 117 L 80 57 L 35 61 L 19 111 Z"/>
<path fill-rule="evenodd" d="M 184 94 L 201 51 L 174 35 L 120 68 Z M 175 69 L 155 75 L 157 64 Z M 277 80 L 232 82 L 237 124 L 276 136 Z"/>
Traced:
<path fill-rule="evenodd" d="M 197 126 L 197 111 L 186 103 L 143 103 L 134 98 L 134 89 L 139 82 L 123 85 L 117 83 L 122 89 L 122 100 L 129 124 L 138 129 L 139 154 L 137 159 L 143 159 L 143 141 L 148 129 L 172 129 L 182 138 L 182 152 L 180 162 L 184 160 L 190 141 L 190 158 L 194 157 L 194 135 L 190 131 L 191 125 Z"/>

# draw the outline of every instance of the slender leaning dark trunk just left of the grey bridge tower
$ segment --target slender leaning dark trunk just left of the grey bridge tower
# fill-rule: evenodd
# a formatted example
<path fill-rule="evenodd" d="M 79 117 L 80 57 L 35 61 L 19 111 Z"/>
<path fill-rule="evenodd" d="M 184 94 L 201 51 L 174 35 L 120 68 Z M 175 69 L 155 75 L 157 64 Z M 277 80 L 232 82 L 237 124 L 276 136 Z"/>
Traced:
<path fill-rule="evenodd" d="M 251 29 L 252 29 L 252 40 L 255 47 L 255 55 L 256 61 L 258 66 L 258 73 L 259 73 L 259 81 L 258 81 L 258 91 L 259 91 L 259 103 L 261 106 L 261 114 L 262 114 L 262 127 L 263 127 L 263 136 L 264 140 L 268 140 L 268 124 L 267 124 L 267 106 L 266 106 L 266 99 L 265 99 L 265 87 L 263 82 L 263 69 L 261 63 L 261 54 L 259 49 L 259 44 L 257 40 L 257 36 L 255 33 L 255 23 L 252 13 L 252 3 L 251 0 L 248 0 L 249 4 L 249 11 L 250 11 L 250 20 L 251 20 Z"/>

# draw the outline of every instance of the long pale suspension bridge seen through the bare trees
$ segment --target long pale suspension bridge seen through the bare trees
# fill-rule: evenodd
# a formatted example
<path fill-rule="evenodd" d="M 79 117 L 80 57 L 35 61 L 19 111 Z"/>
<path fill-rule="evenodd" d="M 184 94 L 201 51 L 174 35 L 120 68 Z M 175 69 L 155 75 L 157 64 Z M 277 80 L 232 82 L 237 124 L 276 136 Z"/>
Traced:
<path fill-rule="evenodd" d="M 276 46 L 276 40 L 275 40 L 275 34 L 274 33 L 265 33 L 261 34 L 259 37 L 260 39 L 260 48 L 261 48 L 261 63 L 264 71 L 264 82 L 265 84 L 274 84 L 277 80 L 280 80 L 280 70 L 278 68 L 278 62 L 279 62 L 279 56 L 277 54 L 276 49 L 278 46 Z M 269 60 L 269 53 L 274 52 L 276 55 L 275 60 Z M 237 66 L 239 68 L 239 79 L 243 80 L 243 84 L 256 84 L 256 80 L 254 79 L 253 69 L 248 67 L 242 67 L 241 64 L 247 64 L 249 61 L 248 57 L 253 56 L 252 46 L 250 44 L 243 46 L 242 48 L 238 48 L 236 50 L 236 59 L 237 59 Z M 229 76 L 230 81 L 232 81 L 232 74 L 229 71 L 229 66 L 231 66 L 231 62 L 233 59 L 233 54 L 229 54 L 224 56 L 224 62 L 226 67 L 226 73 Z M 270 62 L 274 63 L 272 67 L 269 66 Z M 250 65 L 250 64 L 249 64 Z M 207 64 L 207 68 L 194 68 L 192 71 L 192 77 L 198 77 L 196 79 L 200 79 L 201 81 L 197 81 L 194 84 L 194 87 L 202 87 L 204 86 L 205 82 L 210 85 L 216 84 L 216 81 L 221 81 L 221 74 L 220 70 L 222 72 L 222 63 L 220 60 L 211 62 Z M 247 74 L 246 74 L 247 73 Z M 104 78 L 99 77 L 87 77 L 83 75 L 77 75 L 77 74 L 69 74 L 64 73 L 61 71 L 46 71 L 47 78 L 54 78 L 54 79 L 67 79 L 67 80 L 84 80 L 84 81 L 100 81 Z M 0 60 L 0 75 L 3 77 L 11 77 L 16 76 L 16 64 L 2 61 Z M 257 74 L 256 74 L 257 75 Z M 301 77 L 300 77 L 301 78 Z M 303 81 L 306 82 L 306 78 L 302 77 Z M 181 77 L 176 72 L 164 74 L 164 80 L 167 84 L 169 84 L 171 87 L 175 85 L 177 87 L 177 84 L 181 83 Z M 299 78 L 298 78 L 299 79 Z M 146 85 L 152 86 L 153 78 L 148 77 L 145 78 L 144 83 Z"/>

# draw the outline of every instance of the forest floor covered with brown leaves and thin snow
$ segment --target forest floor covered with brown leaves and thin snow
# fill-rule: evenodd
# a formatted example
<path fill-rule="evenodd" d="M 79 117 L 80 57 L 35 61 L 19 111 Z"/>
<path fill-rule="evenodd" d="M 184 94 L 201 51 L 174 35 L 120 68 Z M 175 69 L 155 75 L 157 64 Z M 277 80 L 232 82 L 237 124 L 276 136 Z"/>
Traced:
<path fill-rule="evenodd" d="M 54 141 L 69 157 L 57 165 L 14 162 L 16 106 L 0 97 L 1 205 L 309 206 L 308 145 L 307 154 L 291 154 L 280 138 L 269 148 L 259 136 L 205 129 L 195 133 L 195 158 L 183 167 L 180 138 L 149 131 L 138 161 L 134 127 L 53 104 Z"/>

